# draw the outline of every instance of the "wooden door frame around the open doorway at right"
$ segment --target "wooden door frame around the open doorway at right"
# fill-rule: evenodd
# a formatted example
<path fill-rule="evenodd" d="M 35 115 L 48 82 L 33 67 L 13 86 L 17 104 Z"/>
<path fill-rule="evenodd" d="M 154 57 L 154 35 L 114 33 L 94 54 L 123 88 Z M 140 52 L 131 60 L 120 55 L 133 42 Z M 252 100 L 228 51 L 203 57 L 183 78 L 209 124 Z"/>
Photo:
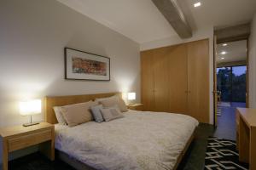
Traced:
<path fill-rule="evenodd" d="M 225 42 L 237 42 L 241 40 L 247 41 L 247 92 L 246 92 L 246 107 L 249 107 L 249 37 L 233 37 L 232 39 L 226 38 L 222 39 L 221 41 L 218 41 L 218 37 L 216 35 L 213 36 L 213 126 L 218 126 L 218 116 L 217 116 L 217 106 L 218 106 L 218 99 L 217 99 L 217 63 L 216 63 L 216 57 L 217 57 L 217 45 L 220 43 Z"/>

